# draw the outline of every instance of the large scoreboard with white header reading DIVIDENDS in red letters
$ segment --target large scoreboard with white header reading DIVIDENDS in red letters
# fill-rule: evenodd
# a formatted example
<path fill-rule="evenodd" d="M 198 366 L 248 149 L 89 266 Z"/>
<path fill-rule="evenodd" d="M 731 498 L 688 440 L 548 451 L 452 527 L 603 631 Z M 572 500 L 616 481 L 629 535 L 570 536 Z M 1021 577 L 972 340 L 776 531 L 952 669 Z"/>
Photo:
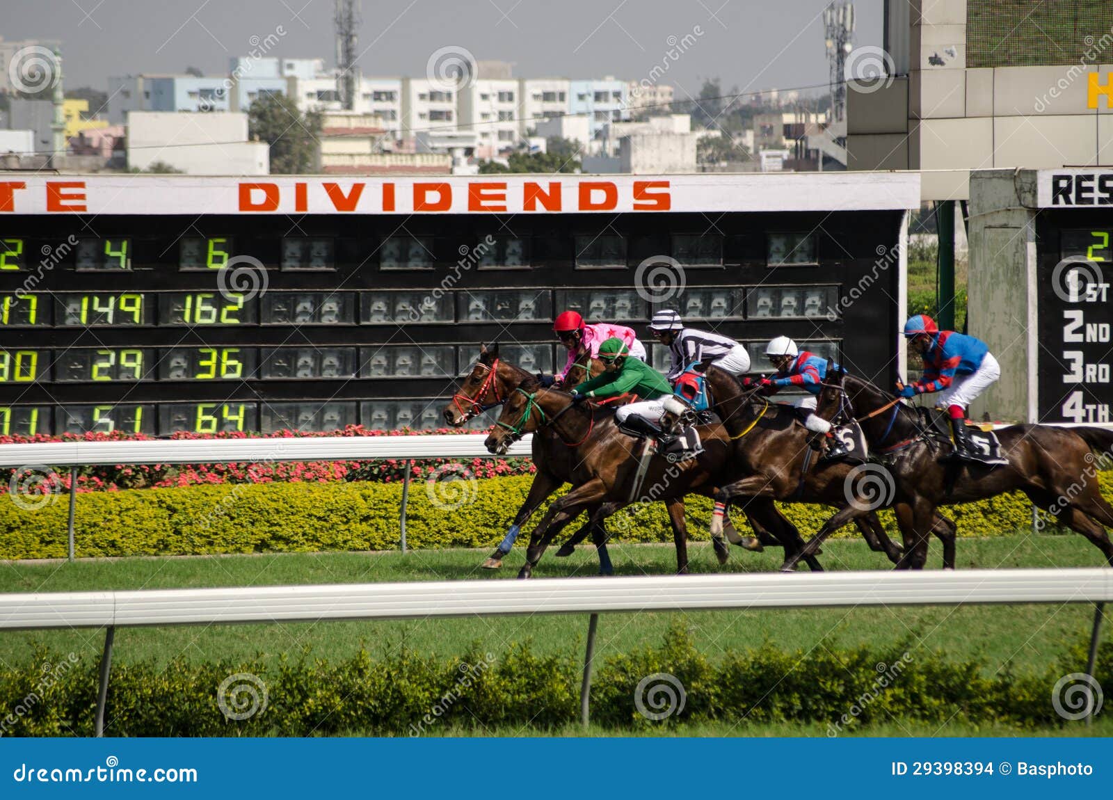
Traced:
<path fill-rule="evenodd" d="M 563 309 L 896 375 L 915 175 L 495 177 L 0 175 L 0 435 L 439 427 Z"/>

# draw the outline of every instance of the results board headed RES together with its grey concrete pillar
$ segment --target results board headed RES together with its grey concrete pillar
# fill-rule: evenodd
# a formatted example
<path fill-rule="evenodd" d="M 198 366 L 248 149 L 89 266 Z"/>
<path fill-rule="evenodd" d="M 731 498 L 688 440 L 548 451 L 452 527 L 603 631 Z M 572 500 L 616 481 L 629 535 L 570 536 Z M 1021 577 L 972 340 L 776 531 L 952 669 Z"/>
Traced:
<path fill-rule="evenodd" d="M 997 406 L 1113 422 L 1113 170 L 987 171 L 971 215 L 971 332 L 1004 353 Z"/>

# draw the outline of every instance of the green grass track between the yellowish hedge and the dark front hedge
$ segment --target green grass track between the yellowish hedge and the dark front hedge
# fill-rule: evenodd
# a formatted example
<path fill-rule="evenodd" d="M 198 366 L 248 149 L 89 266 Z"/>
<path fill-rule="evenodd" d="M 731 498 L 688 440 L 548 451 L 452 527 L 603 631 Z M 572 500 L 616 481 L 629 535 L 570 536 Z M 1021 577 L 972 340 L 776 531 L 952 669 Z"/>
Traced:
<path fill-rule="evenodd" d="M 833 541 L 824 549 L 821 560 L 830 570 L 889 566 L 860 541 Z M 676 564 L 671 546 L 612 545 L 611 551 L 620 575 L 663 574 Z M 593 547 L 580 547 L 570 559 L 551 557 L 552 552 L 542 561 L 535 580 L 595 572 Z M 708 544 L 692 544 L 689 553 L 696 573 L 768 572 L 781 557 L 779 549 L 761 554 L 731 549 L 730 562 L 719 567 Z M 441 550 L 405 555 L 321 553 L 8 563 L 0 566 L 0 592 L 514 579 L 523 559 L 520 551 L 512 553 L 499 572 L 477 569 L 486 554 Z M 958 542 L 958 569 L 1102 563 L 1097 550 L 1075 535 Z M 938 546 L 933 544 L 930 565 L 935 569 L 938 564 Z M 670 624 L 680 621 L 711 658 L 728 649 L 746 650 L 767 641 L 782 649 L 807 650 L 825 644 L 851 646 L 907 639 L 916 648 L 943 651 L 946 658 L 982 658 L 989 673 L 1008 661 L 1017 669 L 1042 671 L 1084 641 L 1092 613 L 1090 606 L 1075 604 L 607 614 L 600 621 L 598 648 L 600 656 L 605 658 L 656 645 Z M 585 631 L 587 619 L 582 615 L 121 629 L 116 633 L 114 659 L 118 663 L 148 659 L 165 663 L 178 655 L 190 661 L 237 661 L 258 655 L 269 663 L 283 653 L 338 659 L 361 646 L 372 655 L 383 655 L 403 645 L 447 658 L 459 655 L 472 643 L 503 652 L 511 642 L 525 640 L 539 653 L 578 653 Z M 88 630 L 8 632 L 0 636 L 0 661 L 10 665 L 27 663 L 35 642 L 58 653 L 96 659 L 102 635 Z"/>

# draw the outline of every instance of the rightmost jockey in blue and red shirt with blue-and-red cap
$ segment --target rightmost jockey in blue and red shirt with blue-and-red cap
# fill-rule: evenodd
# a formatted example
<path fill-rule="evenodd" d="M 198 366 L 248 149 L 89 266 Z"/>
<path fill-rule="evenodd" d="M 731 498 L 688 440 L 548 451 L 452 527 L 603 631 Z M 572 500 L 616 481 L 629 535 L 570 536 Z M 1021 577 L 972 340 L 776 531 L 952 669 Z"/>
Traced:
<path fill-rule="evenodd" d="M 924 376 L 914 384 L 898 386 L 902 397 L 939 392 L 936 405 L 946 408 L 955 435 L 954 457 L 985 462 L 971 444 L 966 431 L 966 406 L 1001 377 L 1001 366 L 982 339 L 954 330 L 939 330 L 926 314 L 905 323 L 904 335 L 924 357 Z"/>

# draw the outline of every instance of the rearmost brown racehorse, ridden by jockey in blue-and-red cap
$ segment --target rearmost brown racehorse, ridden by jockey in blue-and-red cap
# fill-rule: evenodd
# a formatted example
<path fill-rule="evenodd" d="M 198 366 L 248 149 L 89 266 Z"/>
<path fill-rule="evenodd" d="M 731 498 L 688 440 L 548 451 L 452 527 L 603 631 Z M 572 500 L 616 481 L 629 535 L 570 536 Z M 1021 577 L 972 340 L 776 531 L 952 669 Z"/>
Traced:
<path fill-rule="evenodd" d="M 888 412 L 888 408 L 893 408 Z M 1097 486 L 1092 451 L 1113 454 L 1113 431 L 1099 427 L 1011 425 L 997 431 L 1007 465 L 939 463 L 952 445 L 925 429 L 916 411 L 873 384 L 843 373 L 827 374 L 817 413 L 833 418 L 848 411 L 861 425 L 875 454 L 888 464 L 894 507 L 905 537 L 897 569 L 920 569 L 927 559 L 932 514 L 939 505 L 969 503 L 1021 491 L 1096 545 L 1113 564 L 1113 543 L 1103 526 L 1113 526 L 1113 507 Z M 878 412 L 881 413 L 878 413 Z M 827 525 L 837 526 L 860 513 L 844 508 Z M 818 542 L 817 537 L 817 542 Z"/>

